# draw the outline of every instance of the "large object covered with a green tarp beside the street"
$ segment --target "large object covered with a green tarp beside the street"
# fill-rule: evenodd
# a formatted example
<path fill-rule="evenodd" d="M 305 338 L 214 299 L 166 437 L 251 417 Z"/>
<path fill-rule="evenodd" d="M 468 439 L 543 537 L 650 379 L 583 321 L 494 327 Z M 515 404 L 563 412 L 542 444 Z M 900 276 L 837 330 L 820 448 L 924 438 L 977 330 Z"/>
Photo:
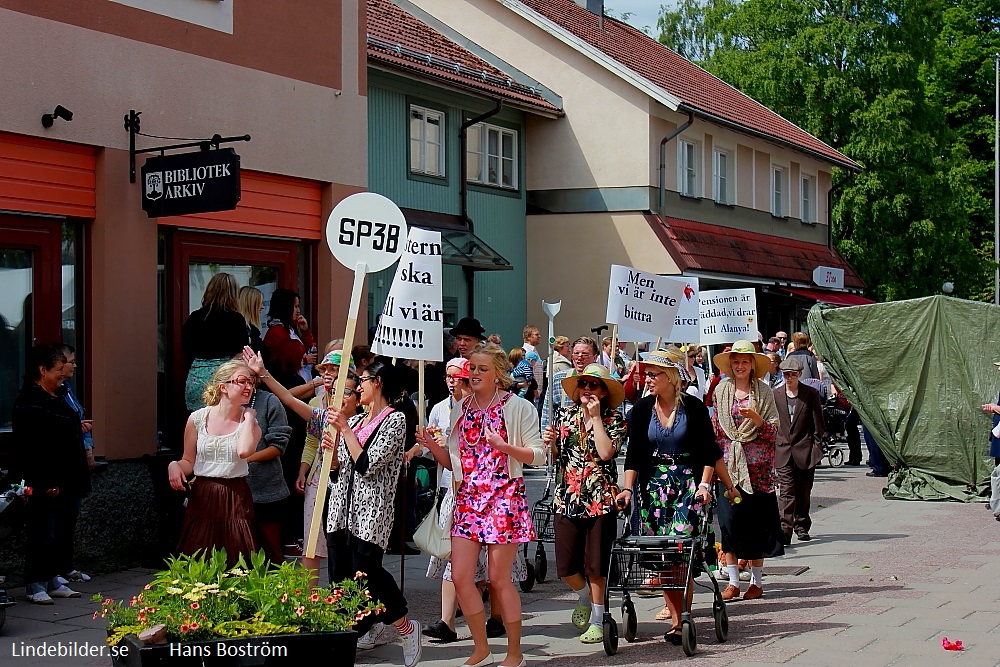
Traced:
<path fill-rule="evenodd" d="M 809 335 L 886 460 L 886 498 L 984 500 L 1000 306 L 931 296 L 813 306 Z"/>

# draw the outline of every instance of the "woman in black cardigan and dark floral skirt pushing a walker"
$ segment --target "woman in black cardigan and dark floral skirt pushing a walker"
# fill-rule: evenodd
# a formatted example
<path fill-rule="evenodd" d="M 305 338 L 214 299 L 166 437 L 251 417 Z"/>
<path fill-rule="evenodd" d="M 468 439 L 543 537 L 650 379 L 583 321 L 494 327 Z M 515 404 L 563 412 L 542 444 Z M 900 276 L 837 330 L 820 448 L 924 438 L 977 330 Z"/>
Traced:
<path fill-rule="evenodd" d="M 646 355 L 642 363 L 648 394 L 636 401 L 627 417 L 625 487 L 618 504 L 634 503 L 632 527 L 639 535 L 690 537 L 698 523 L 696 512 L 712 500 L 713 475 L 717 473 L 727 489 L 733 488 L 708 408 L 682 390 L 681 359 L 669 350 Z M 730 502 L 735 502 L 738 494 L 734 494 Z M 659 581 L 649 584 L 656 588 Z M 689 582 L 688 595 L 691 590 Z M 664 638 L 673 644 L 681 643 L 681 593 L 664 590 L 664 607 L 656 615 L 657 620 L 672 621 Z"/>

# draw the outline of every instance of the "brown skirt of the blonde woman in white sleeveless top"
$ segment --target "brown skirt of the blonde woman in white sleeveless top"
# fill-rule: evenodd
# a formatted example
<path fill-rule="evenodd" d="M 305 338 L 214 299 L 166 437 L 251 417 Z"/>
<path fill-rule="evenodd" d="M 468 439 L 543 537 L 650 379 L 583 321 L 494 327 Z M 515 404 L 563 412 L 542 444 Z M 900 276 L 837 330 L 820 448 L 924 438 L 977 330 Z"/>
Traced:
<path fill-rule="evenodd" d="M 261 548 L 246 477 L 198 477 L 194 481 L 177 551 L 193 554 L 213 548 L 226 550 L 230 567 L 240 555 L 249 565 L 250 554 Z"/>

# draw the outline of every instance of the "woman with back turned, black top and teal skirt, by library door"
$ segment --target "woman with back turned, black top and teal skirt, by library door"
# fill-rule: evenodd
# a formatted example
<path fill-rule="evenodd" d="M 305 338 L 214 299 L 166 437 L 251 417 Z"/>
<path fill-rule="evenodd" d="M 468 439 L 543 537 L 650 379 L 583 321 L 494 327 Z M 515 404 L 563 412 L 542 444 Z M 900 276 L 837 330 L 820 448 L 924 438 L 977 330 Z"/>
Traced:
<path fill-rule="evenodd" d="M 215 370 L 247 344 L 247 321 L 240 314 L 239 287 L 228 273 L 216 273 L 205 287 L 201 308 L 191 313 L 181 330 L 181 348 L 188 366 L 184 403 L 188 410 L 204 406 L 202 395 Z"/>

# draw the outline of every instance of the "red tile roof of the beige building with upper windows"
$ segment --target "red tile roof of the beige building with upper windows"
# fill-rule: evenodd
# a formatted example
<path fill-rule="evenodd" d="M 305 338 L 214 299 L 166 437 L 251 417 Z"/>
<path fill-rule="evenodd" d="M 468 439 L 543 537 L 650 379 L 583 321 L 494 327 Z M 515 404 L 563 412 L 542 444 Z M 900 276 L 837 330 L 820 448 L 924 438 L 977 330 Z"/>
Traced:
<path fill-rule="evenodd" d="M 604 17 L 602 29 L 600 17 L 573 0 L 519 2 L 660 86 L 696 113 L 765 134 L 840 166 L 860 168 L 840 151 L 630 25 Z"/>

